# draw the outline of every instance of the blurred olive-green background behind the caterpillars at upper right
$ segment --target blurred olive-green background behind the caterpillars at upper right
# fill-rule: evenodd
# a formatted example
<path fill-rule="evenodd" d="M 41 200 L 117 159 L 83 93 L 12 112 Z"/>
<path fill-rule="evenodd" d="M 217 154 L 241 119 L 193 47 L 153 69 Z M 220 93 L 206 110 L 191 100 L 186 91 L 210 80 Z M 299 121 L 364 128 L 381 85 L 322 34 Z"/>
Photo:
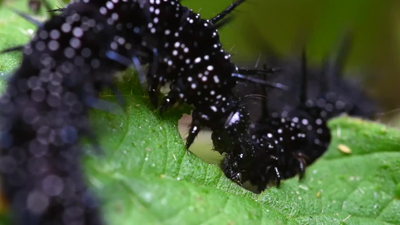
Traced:
<path fill-rule="evenodd" d="M 204 18 L 231 3 L 182 1 Z M 391 110 L 400 106 L 399 6 L 398 0 L 247 0 L 235 10 L 234 21 L 220 30 L 220 37 L 226 50 L 237 52 L 233 60 L 238 64 L 255 64 L 266 41 L 287 56 L 297 54 L 296 50 L 306 44 L 309 63 L 319 65 L 350 29 L 354 44 L 346 69 L 365 70 L 365 74 L 356 75 L 362 76 L 384 109 Z"/>

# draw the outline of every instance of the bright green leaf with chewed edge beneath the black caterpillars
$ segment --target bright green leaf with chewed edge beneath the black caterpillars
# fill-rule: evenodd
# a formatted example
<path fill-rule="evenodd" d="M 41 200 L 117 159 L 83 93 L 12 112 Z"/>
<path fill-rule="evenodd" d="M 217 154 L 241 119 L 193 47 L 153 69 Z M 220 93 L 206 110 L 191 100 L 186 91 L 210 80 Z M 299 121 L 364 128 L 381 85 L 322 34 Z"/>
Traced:
<path fill-rule="evenodd" d="M 34 29 L 2 8 L 0 48 L 26 42 L 22 31 L 29 28 Z M 19 62 L 18 53 L 0 56 L 0 74 Z M 0 76 L 0 88 L 4 78 Z M 348 117 L 334 119 L 329 123 L 329 150 L 307 168 L 302 181 L 288 179 L 280 188 L 256 195 L 226 179 L 218 165 L 186 152 L 178 119 L 188 108 L 158 116 L 132 71 L 124 72 L 118 85 L 126 109 L 115 114 L 93 110 L 103 153 L 85 145 L 84 160 L 88 182 L 102 199 L 109 224 L 400 223 L 396 129 Z M 101 97 L 116 101 L 111 92 Z M 6 221 L 0 219 L 9 224 Z"/>

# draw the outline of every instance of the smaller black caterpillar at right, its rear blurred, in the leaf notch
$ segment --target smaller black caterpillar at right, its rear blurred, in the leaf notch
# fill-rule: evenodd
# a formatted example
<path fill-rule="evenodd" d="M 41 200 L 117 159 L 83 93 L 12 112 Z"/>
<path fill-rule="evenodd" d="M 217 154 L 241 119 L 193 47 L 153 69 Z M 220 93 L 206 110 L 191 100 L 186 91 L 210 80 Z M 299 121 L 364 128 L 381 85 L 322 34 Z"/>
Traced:
<path fill-rule="evenodd" d="M 348 40 L 345 39 L 335 60 L 326 64 L 329 67 L 324 70 L 326 74 L 319 74 L 318 83 L 325 84 L 318 91 L 315 91 L 315 86 L 310 86 L 316 80 L 308 75 L 303 54 L 300 74 L 290 70 L 291 79 L 288 79 L 296 80 L 295 76 L 299 76 L 300 82 L 294 81 L 289 85 L 291 91 L 283 93 L 287 98 L 293 98 L 291 93 L 300 89 L 298 103 L 283 101 L 277 105 L 271 106 L 270 102 L 264 105 L 263 114 L 249 131 L 251 147 L 246 151 L 221 143 L 222 137 L 213 137 L 215 149 L 227 153 L 222 163 L 227 177 L 240 185 L 250 181 L 257 186 L 258 192 L 270 182 L 279 186 L 281 179 L 296 174 L 302 179 L 306 166 L 318 159 L 330 144 L 329 119 L 343 113 L 373 119 L 378 110 L 375 102 L 362 90 L 340 78 L 347 48 Z"/>

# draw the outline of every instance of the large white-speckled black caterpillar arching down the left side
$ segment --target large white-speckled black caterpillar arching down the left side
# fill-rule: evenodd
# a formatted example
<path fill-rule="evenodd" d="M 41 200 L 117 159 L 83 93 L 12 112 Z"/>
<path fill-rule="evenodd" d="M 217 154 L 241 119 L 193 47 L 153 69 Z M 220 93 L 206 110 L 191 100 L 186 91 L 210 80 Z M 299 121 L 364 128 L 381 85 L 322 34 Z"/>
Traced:
<path fill-rule="evenodd" d="M 210 20 L 178 0 L 76 0 L 38 24 L 23 60 L 0 99 L 2 186 L 18 224 L 103 224 L 99 206 L 81 172 L 79 141 L 88 136 L 88 110 L 98 93 L 114 87 L 114 73 L 133 64 L 158 104 L 160 87 L 171 82 L 160 108 L 186 102 L 196 108 L 186 146 L 202 127 L 243 149 L 247 112 L 232 88 L 246 76 L 222 49 L 217 28 L 236 6 Z M 219 22 L 222 20 L 221 22 Z M 217 23 L 218 22 L 218 23 Z M 142 64 L 148 64 L 144 74 Z M 118 92 L 117 92 L 118 94 Z"/>

